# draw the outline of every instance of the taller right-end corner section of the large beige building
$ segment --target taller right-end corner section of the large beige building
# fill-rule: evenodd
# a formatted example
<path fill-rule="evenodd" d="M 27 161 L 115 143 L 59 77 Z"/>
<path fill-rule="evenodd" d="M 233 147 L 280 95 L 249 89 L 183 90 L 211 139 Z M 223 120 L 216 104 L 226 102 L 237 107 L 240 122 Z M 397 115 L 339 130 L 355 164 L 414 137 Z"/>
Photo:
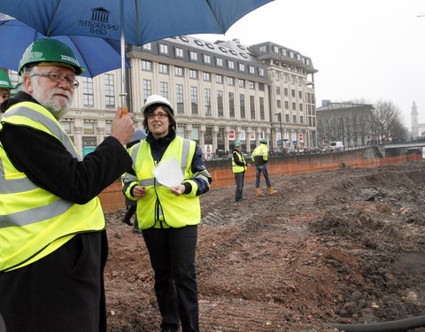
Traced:
<path fill-rule="evenodd" d="M 317 145 L 314 73 L 311 58 L 274 42 L 250 47 L 267 66 L 274 143 Z M 282 133 L 281 133 L 282 130 Z"/>

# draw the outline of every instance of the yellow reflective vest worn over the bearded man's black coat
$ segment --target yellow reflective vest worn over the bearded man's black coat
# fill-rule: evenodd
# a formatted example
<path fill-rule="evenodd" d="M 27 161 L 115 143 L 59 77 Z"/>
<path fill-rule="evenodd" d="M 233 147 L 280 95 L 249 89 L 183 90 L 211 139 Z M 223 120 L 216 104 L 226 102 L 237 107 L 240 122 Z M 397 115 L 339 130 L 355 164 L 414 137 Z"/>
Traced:
<path fill-rule="evenodd" d="M 81 159 L 58 120 L 39 104 L 15 104 L 4 113 L 2 122 L 52 135 L 74 158 Z M 0 143 L 1 273 L 42 259 L 77 233 L 104 227 L 104 213 L 97 197 L 78 205 L 38 187 L 12 165 Z"/>

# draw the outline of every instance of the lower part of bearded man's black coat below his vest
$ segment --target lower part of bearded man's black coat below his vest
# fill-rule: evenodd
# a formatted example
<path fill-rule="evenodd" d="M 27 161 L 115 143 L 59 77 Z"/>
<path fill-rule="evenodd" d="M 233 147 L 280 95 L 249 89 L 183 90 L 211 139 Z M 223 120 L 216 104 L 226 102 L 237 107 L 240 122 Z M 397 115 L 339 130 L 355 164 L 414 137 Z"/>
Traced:
<path fill-rule="evenodd" d="M 7 332 L 104 332 L 106 233 L 75 235 L 35 263 L 0 274 Z"/>

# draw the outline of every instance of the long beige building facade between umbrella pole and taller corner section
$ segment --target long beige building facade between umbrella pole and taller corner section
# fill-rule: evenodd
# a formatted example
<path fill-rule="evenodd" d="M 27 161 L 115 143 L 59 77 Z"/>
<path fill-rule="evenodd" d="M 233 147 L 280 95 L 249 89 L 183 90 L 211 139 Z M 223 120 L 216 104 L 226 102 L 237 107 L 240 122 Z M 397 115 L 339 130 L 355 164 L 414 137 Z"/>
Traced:
<path fill-rule="evenodd" d="M 203 151 L 228 151 L 236 140 L 251 151 L 269 138 L 267 68 L 238 42 L 205 42 L 189 36 L 130 46 L 129 103 L 140 110 L 151 94 L 175 105 L 177 133 Z"/>

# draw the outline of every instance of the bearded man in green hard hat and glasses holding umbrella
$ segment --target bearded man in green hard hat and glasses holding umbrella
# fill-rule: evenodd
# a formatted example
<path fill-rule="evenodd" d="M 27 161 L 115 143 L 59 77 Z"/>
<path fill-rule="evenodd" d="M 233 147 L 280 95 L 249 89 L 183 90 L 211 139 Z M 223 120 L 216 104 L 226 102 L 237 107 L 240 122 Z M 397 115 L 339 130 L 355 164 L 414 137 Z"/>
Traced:
<path fill-rule="evenodd" d="M 0 314 L 7 331 L 106 331 L 104 212 L 97 195 L 132 165 L 132 115 L 81 159 L 60 120 L 71 107 L 73 50 L 44 38 L 19 63 L 0 107 Z"/>

